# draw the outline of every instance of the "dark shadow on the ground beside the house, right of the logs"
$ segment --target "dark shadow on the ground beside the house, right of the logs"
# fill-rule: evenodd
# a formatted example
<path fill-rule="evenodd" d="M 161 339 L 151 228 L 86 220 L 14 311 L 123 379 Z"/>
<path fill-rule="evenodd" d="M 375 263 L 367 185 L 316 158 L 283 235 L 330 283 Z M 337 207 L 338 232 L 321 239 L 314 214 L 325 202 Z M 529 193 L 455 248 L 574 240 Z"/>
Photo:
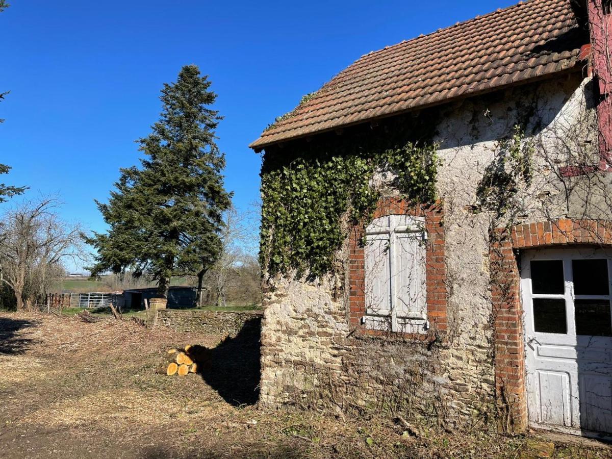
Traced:
<path fill-rule="evenodd" d="M 210 364 L 198 373 L 230 405 L 255 405 L 259 399 L 261 319 L 245 322 L 236 337 L 210 349 Z"/>

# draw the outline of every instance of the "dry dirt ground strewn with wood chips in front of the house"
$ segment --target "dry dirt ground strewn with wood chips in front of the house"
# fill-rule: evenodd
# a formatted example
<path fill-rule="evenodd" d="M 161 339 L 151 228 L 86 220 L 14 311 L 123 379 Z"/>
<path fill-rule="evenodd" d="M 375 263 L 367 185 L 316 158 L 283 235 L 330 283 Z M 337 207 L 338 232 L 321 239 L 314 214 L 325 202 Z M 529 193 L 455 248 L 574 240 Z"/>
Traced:
<path fill-rule="evenodd" d="M 612 457 L 596 442 L 473 430 L 424 430 L 394 419 L 341 419 L 258 409 L 253 335 L 147 330 L 133 321 L 84 323 L 0 313 L 0 457 Z M 166 350 L 212 348 L 201 375 L 155 370 Z"/>

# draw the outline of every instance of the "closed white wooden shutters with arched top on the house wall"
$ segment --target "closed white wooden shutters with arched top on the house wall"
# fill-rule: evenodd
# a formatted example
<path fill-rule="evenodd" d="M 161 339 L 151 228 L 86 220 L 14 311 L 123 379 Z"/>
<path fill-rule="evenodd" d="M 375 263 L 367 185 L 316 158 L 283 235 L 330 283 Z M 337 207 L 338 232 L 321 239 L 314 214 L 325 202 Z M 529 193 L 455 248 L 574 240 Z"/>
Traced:
<path fill-rule="evenodd" d="M 386 215 L 365 234 L 365 316 L 368 329 L 427 330 L 425 218 Z"/>

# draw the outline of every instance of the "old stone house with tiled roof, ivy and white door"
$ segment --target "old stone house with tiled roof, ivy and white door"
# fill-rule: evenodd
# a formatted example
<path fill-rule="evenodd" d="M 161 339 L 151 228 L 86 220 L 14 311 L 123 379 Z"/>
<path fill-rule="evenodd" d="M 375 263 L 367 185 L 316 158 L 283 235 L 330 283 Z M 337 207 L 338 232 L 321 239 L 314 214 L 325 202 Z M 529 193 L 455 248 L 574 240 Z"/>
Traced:
<path fill-rule="evenodd" d="M 263 406 L 612 433 L 611 17 L 531 0 L 365 54 L 250 145 Z"/>

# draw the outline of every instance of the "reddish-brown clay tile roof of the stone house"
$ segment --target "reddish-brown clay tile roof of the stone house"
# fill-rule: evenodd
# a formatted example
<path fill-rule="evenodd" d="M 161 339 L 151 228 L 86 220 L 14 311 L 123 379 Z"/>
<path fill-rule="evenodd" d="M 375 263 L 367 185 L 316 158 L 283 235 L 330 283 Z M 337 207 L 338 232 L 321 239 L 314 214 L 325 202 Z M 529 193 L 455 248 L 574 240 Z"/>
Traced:
<path fill-rule="evenodd" d="M 585 39 L 570 0 L 531 0 L 365 54 L 250 144 L 357 124 L 574 67 Z"/>

